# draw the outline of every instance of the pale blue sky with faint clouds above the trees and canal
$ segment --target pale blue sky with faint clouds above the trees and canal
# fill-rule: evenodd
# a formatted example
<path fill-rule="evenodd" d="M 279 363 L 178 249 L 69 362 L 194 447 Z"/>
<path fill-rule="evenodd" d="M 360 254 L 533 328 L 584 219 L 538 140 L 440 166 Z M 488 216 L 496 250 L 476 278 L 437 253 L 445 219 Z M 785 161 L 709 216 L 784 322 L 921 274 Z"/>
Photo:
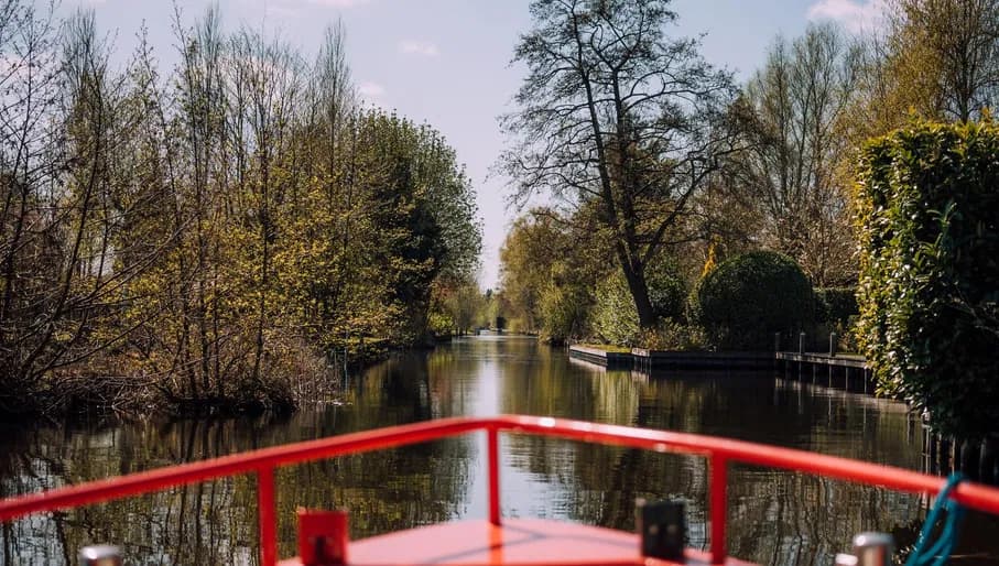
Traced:
<path fill-rule="evenodd" d="M 42 0 L 39 0 L 40 2 Z M 848 30 L 876 25 L 884 0 L 674 0 L 680 15 L 669 33 L 703 35 L 702 54 L 752 75 L 778 34 L 794 37 L 810 21 L 835 20 Z M 209 0 L 176 0 L 189 25 Z M 525 72 L 510 65 L 519 34 L 531 26 L 528 0 L 218 0 L 227 29 L 248 25 L 278 34 L 313 56 L 327 25 L 341 18 L 357 87 L 367 104 L 394 109 L 441 131 L 478 195 L 482 219 L 479 284 L 497 287 L 499 248 L 519 211 L 507 206 L 507 179 L 489 175 L 503 150 L 497 117 Z M 154 53 L 166 68 L 176 62 L 167 0 L 63 0 L 59 11 L 93 8 L 124 61 L 145 24 Z M 117 58 L 117 57 L 116 57 Z"/>

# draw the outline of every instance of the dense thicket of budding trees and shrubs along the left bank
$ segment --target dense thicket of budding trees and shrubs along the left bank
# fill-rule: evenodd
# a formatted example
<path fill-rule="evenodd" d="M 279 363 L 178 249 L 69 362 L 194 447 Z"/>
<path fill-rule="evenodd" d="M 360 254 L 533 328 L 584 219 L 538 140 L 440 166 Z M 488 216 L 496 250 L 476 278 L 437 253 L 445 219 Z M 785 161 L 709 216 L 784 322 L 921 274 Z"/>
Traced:
<path fill-rule="evenodd" d="M 217 8 L 138 30 L 0 10 L 0 417 L 287 411 L 351 363 L 432 340 L 478 294 L 455 150 L 318 53 Z"/>

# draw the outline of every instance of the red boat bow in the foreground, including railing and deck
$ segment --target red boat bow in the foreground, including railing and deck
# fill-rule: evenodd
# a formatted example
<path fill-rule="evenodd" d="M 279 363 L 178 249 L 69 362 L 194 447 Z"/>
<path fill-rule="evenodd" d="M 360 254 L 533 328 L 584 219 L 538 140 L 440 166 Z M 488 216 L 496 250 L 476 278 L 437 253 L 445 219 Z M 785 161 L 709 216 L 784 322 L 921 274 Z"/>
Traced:
<path fill-rule="evenodd" d="M 345 512 L 300 509 L 300 555 L 279 562 L 275 468 L 477 432 L 484 432 L 487 438 L 487 519 L 422 526 L 348 542 Z M 683 509 L 671 502 L 640 505 L 638 534 L 560 521 L 503 519 L 500 512 L 500 434 L 540 435 L 660 453 L 694 454 L 706 458 L 709 469 L 709 516 L 705 530 L 709 541 L 707 551 L 683 548 Z M 728 556 L 726 549 L 727 474 L 728 466 L 735 462 L 793 470 L 911 493 L 936 494 L 942 488 L 948 487 L 948 481 L 943 478 L 804 450 L 669 431 L 542 416 L 502 415 L 442 418 L 365 431 L 0 500 L 0 521 L 227 476 L 254 474 L 260 564 L 263 566 L 745 565 L 749 563 Z M 962 482 L 953 486 L 943 498 L 949 498 L 970 509 L 999 514 L 997 488 Z M 844 541 L 844 548 L 848 545 L 849 541 Z M 94 556 L 83 564 L 104 566 L 116 564 L 117 560 Z M 847 558 L 851 557 L 845 557 Z M 837 564 L 840 564 L 839 559 Z M 873 563 L 860 560 L 853 564 Z"/>

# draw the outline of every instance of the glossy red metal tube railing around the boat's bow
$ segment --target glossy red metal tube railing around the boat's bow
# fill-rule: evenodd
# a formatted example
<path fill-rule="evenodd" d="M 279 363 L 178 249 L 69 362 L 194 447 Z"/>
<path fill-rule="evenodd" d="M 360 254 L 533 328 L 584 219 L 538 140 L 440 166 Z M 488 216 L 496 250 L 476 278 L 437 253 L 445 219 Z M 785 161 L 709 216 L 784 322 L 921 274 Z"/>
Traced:
<path fill-rule="evenodd" d="M 227 476 L 256 474 L 261 564 L 263 566 L 273 566 L 278 562 L 274 468 L 347 454 L 423 443 L 475 431 L 486 431 L 489 469 L 489 521 L 496 525 L 501 522 L 499 489 L 499 433 L 501 432 L 553 436 L 654 451 L 704 456 L 708 460 L 710 470 L 708 508 L 712 564 L 721 564 L 727 556 L 725 523 L 729 462 L 802 471 L 912 493 L 934 494 L 946 483 L 943 478 L 901 468 L 741 440 L 593 424 L 562 418 L 506 415 L 486 418 L 443 418 L 392 426 L 275 446 L 246 454 L 236 454 L 211 460 L 183 464 L 120 478 L 110 478 L 21 496 L 0 500 L 0 521 L 10 521 L 31 513 L 97 503 Z M 952 492 L 951 497 L 965 507 L 999 514 L 999 489 L 963 482 Z"/>

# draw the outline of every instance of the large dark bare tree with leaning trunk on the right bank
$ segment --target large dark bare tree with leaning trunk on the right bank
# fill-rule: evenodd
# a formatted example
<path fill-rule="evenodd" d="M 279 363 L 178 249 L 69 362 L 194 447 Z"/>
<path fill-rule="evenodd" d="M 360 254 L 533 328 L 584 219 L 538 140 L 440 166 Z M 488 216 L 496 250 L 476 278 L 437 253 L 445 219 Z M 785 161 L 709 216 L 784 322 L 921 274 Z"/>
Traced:
<path fill-rule="evenodd" d="M 643 327 L 656 323 L 645 266 L 731 139 L 728 73 L 696 40 L 666 36 L 669 0 L 536 0 L 514 61 L 529 75 L 502 118 L 519 137 L 501 159 L 524 204 L 540 192 L 598 203 Z"/>

